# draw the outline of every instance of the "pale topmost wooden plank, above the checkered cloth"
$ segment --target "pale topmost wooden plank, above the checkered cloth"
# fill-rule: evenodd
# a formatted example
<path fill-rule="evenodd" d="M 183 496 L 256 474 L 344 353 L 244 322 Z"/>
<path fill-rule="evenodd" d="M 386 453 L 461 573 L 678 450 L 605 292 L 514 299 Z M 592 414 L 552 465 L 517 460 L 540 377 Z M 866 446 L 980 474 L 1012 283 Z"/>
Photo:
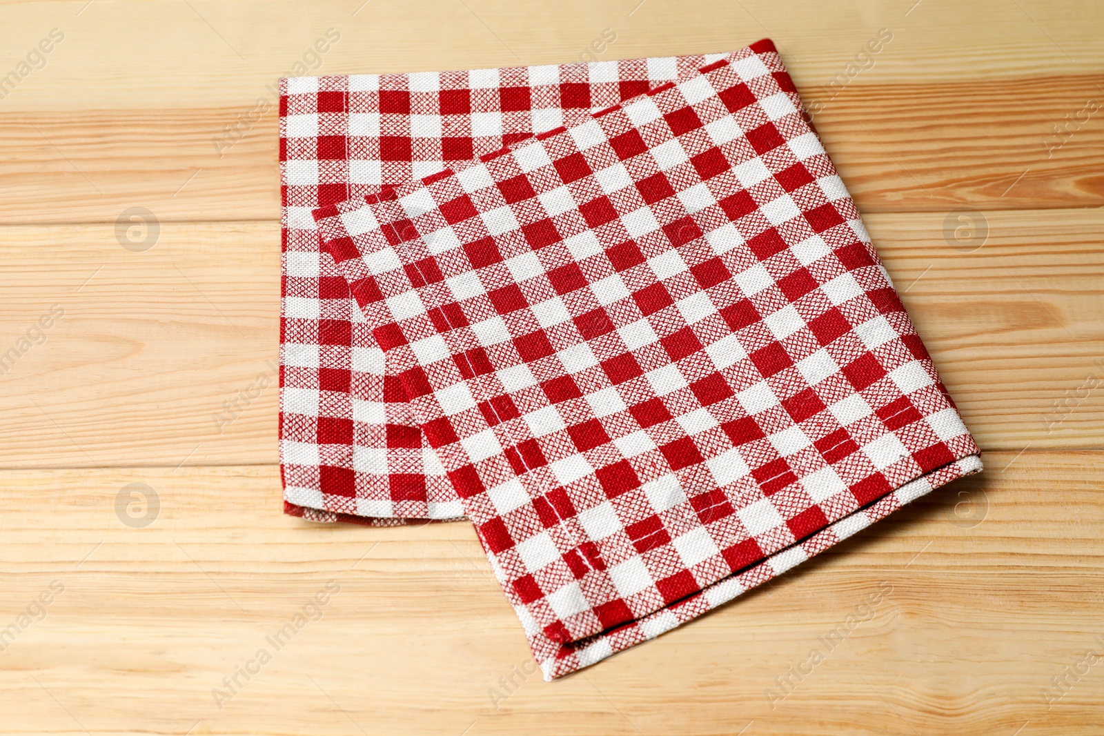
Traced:
<path fill-rule="evenodd" d="M 555 64 L 578 60 L 604 28 L 617 39 L 599 61 L 731 51 L 769 36 L 798 81 L 816 86 L 842 73 L 882 28 L 892 39 L 872 66 L 851 74 L 852 84 L 875 76 L 914 82 L 917 72 L 938 82 L 1062 76 L 1098 72 L 1104 63 L 1096 33 L 1104 10 L 1084 2 L 1058 8 L 1047 0 L 960 7 L 946 0 L 843 0 L 799 13 L 769 0 L 192 4 L 0 4 L 8 67 L 50 29 L 65 36 L 44 67 L 24 75 L 4 107 L 160 109 L 181 99 L 190 106 L 246 102 L 302 61 L 321 74 Z M 304 60 L 329 28 L 340 34 L 332 49 L 320 62 Z"/>

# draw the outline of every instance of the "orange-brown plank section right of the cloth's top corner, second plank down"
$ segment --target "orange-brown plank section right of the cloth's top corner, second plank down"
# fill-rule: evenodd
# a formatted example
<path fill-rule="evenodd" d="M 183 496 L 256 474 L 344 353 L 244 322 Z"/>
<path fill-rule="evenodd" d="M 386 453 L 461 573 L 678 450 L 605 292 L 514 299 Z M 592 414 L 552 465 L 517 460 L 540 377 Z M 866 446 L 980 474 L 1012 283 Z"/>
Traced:
<path fill-rule="evenodd" d="M 853 85 L 816 126 L 864 213 L 1095 207 L 1104 122 L 1090 103 L 1104 109 L 1104 75 Z M 1087 121 L 1054 132 L 1068 118 Z"/>

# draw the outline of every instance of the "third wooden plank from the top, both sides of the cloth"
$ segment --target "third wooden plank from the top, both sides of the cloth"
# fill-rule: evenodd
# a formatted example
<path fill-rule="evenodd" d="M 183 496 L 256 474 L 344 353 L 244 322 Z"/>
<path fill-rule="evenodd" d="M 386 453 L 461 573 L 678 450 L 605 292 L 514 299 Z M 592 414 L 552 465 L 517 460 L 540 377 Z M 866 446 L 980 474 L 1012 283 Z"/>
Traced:
<path fill-rule="evenodd" d="M 868 224 L 983 447 L 1098 447 L 1104 212 L 986 217 L 974 253 L 946 213 Z M 112 225 L 0 228 L 0 352 L 65 309 L 0 377 L 0 467 L 275 462 L 278 243 L 274 223 L 163 223 L 141 253 Z"/>

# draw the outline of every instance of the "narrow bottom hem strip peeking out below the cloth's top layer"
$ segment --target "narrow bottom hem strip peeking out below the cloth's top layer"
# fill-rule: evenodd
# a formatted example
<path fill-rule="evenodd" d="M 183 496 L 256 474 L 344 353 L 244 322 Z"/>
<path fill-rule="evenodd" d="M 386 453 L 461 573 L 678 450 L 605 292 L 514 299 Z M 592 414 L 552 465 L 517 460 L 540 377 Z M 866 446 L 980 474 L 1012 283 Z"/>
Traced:
<path fill-rule="evenodd" d="M 885 519 L 906 503 L 911 503 L 951 481 L 980 471 L 980 454 L 958 458 L 899 486 L 869 505 L 857 509 L 800 542 L 779 550 L 753 567 L 722 578 L 702 588 L 699 593 L 636 621 L 572 644 L 559 644 L 546 639 L 541 641 L 543 637 L 539 633 L 534 637 L 531 633 L 539 627 L 535 623 L 528 623 L 522 618 L 521 623 L 529 634 L 529 643 L 534 650 L 534 659 L 540 664 L 546 682 L 559 680 L 592 664 L 597 664 L 614 654 L 656 639 L 660 634 L 723 606 L 752 588 L 797 567 L 825 550 Z M 496 569 L 495 574 L 498 576 L 499 570 Z M 537 652 L 539 647 L 548 652 L 543 658 Z"/>

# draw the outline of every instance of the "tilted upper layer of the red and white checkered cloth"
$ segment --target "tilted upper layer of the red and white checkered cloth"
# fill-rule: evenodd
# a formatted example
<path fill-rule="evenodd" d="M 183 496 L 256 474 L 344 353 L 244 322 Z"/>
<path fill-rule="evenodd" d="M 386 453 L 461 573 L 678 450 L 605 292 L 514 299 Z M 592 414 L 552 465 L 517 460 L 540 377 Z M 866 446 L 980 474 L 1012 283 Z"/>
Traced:
<path fill-rule="evenodd" d="M 315 213 L 550 679 L 980 469 L 760 55 Z"/>

